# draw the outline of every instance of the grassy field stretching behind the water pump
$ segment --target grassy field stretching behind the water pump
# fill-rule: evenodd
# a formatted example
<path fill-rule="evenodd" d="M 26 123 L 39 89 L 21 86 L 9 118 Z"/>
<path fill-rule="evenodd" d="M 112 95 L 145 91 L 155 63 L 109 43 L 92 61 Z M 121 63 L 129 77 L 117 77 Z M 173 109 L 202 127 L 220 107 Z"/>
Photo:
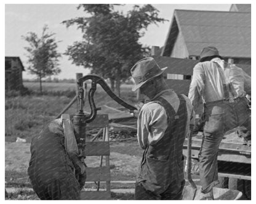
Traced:
<path fill-rule="evenodd" d="M 74 83 L 43 83 L 42 96 L 39 94 L 39 83 L 26 82 L 24 86 L 30 89 L 32 94 L 6 97 L 5 135 L 7 142 L 15 142 L 17 137 L 25 138 L 30 142 L 31 136 L 38 134 L 42 127 L 54 119 L 76 96 Z M 136 95 L 130 89 L 130 85 L 122 85 L 121 97 L 130 104 L 134 104 Z M 100 86 L 95 91 L 94 100 L 96 107 L 107 105 L 121 108 L 121 105 L 111 99 Z M 77 112 L 76 108 L 76 103 L 74 103 L 66 113 L 74 114 Z M 84 110 L 90 112 L 88 99 L 86 99 Z"/>

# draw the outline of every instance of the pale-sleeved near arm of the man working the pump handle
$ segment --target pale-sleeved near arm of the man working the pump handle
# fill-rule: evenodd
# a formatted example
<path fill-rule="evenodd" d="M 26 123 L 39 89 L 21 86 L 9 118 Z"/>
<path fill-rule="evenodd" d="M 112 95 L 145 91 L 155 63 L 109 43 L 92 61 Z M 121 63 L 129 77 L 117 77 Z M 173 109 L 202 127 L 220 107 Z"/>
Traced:
<path fill-rule="evenodd" d="M 141 148 L 154 145 L 164 136 L 167 129 L 166 110 L 156 102 L 145 104 L 138 115 L 137 125 L 138 143 Z"/>

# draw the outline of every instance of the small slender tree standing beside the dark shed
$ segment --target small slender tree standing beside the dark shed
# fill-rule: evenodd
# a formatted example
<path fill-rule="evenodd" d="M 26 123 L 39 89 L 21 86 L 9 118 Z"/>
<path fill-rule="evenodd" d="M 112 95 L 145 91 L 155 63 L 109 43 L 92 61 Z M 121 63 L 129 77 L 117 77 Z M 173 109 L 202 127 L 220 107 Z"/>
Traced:
<path fill-rule="evenodd" d="M 40 82 L 40 93 L 42 94 L 42 78 L 60 73 L 58 68 L 58 58 L 61 54 L 58 53 L 57 43 L 53 37 L 55 33 L 47 32 L 48 26 L 42 28 L 42 36 L 34 32 L 28 32 L 26 36 L 22 36 L 29 43 L 25 50 L 28 51 L 28 70 L 31 74 L 37 75 Z"/>

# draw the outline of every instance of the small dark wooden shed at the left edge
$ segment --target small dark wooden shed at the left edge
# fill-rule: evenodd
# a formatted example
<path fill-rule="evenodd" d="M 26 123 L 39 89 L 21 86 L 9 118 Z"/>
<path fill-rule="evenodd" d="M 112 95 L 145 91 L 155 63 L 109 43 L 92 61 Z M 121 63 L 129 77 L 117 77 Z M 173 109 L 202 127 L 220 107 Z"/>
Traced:
<path fill-rule="evenodd" d="M 17 56 L 6 56 L 6 91 L 23 89 L 22 72 L 25 71 L 22 61 Z"/>

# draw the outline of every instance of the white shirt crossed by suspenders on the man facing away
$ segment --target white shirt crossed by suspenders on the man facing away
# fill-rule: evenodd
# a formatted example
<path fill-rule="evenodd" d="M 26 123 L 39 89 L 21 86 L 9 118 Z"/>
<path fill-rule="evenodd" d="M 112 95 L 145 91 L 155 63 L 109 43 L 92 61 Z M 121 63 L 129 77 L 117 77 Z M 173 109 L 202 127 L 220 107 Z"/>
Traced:
<path fill-rule="evenodd" d="M 250 93 L 250 76 L 234 64 L 225 63 L 220 58 L 199 62 L 193 69 L 188 98 L 198 107 L 202 97 L 203 102 L 225 99 L 223 84 L 230 84 L 234 99 Z"/>

